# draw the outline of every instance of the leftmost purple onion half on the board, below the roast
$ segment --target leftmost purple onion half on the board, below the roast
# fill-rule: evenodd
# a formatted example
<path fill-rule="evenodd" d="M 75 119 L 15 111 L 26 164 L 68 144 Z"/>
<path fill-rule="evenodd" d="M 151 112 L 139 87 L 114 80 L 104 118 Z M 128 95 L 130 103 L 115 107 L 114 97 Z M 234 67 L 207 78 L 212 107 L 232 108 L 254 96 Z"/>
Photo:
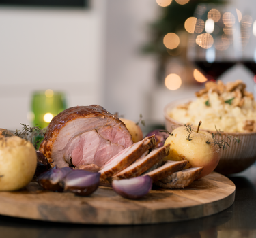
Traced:
<path fill-rule="evenodd" d="M 61 181 L 70 173 L 73 171 L 70 167 L 64 167 L 64 168 L 57 168 L 53 167 L 53 169 L 50 169 L 44 173 L 41 173 L 38 178 L 38 184 L 42 186 L 46 190 L 51 191 L 57 191 L 61 192 L 63 191 L 63 186 L 61 186 Z"/>

